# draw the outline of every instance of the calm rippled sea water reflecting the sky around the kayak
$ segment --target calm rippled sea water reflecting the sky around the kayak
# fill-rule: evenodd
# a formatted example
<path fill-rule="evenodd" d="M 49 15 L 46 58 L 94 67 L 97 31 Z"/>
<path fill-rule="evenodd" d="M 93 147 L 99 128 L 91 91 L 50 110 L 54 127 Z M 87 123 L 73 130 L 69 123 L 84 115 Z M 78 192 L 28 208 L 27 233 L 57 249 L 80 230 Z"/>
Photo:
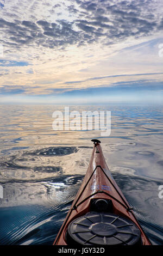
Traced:
<path fill-rule="evenodd" d="M 54 131 L 65 106 L 0 105 L 1 245 L 52 245 L 85 175 L 92 138 L 153 245 L 163 244 L 163 107 L 70 106 L 111 111 L 111 135 Z"/>

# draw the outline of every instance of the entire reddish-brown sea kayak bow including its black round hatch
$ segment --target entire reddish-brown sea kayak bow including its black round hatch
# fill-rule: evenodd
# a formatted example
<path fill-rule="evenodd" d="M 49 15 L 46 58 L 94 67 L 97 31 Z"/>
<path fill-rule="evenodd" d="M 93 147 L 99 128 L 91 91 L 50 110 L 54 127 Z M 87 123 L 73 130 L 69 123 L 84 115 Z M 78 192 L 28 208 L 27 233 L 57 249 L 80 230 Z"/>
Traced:
<path fill-rule="evenodd" d="M 53 245 L 151 245 L 92 139 L 89 167 Z"/>

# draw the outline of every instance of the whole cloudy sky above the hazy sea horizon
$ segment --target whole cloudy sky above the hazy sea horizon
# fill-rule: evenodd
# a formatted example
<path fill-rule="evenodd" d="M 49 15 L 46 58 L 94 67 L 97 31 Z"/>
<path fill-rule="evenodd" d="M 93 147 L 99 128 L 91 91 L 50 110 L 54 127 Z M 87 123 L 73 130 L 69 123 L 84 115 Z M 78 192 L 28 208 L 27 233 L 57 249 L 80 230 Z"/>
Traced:
<path fill-rule="evenodd" d="M 0 0 L 0 102 L 163 102 L 162 0 Z"/>

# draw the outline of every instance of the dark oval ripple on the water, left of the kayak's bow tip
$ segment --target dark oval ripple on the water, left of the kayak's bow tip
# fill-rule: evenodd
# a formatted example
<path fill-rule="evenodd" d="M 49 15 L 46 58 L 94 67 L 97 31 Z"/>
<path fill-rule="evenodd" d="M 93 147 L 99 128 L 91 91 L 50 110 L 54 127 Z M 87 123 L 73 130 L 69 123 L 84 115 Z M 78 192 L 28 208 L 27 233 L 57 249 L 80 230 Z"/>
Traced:
<path fill-rule="evenodd" d="M 76 147 L 49 147 L 37 150 L 31 154 L 41 156 L 64 156 L 76 153 L 77 151 Z"/>

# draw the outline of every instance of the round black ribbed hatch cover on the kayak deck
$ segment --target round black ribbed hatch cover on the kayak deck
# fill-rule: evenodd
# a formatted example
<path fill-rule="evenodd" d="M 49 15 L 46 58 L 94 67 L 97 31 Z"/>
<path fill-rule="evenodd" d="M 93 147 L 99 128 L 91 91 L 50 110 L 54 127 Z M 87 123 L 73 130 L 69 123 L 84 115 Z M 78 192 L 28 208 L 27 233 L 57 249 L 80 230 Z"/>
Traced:
<path fill-rule="evenodd" d="M 134 222 L 115 214 L 89 212 L 68 225 L 67 240 L 81 245 L 140 245 Z"/>

